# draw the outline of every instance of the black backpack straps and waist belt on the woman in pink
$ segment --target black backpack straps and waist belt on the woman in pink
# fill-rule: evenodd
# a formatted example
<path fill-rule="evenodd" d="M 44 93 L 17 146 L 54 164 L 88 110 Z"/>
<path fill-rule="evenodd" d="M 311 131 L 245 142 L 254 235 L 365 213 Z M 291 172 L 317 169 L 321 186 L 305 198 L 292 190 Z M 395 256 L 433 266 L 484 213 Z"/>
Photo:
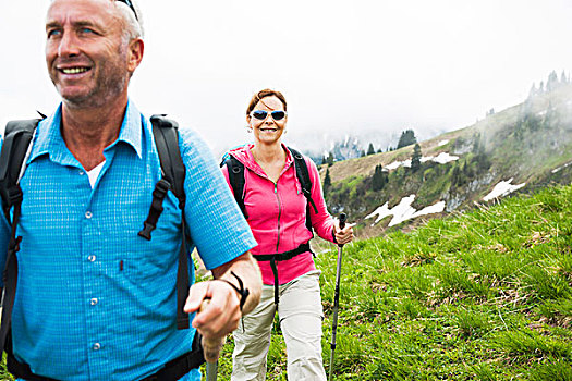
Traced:
<path fill-rule="evenodd" d="M 300 181 L 302 193 L 304 194 L 304 197 L 306 197 L 306 201 L 307 201 L 306 202 L 306 228 L 309 230 L 311 233 L 313 233 L 312 220 L 309 217 L 309 207 L 312 205 L 312 208 L 314 208 L 314 211 L 316 213 L 318 212 L 318 208 L 316 208 L 316 204 L 312 199 L 312 181 L 309 180 L 308 167 L 306 165 L 306 161 L 304 160 L 304 157 L 302 156 L 302 153 L 300 153 L 297 150 L 291 147 L 287 147 L 287 148 L 292 153 L 292 157 L 294 158 L 294 169 L 296 171 L 296 177 Z M 233 157 L 232 153 L 227 153 L 222 157 L 222 162 L 220 163 L 220 167 L 223 167 L 223 165 L 227 165 L 228 171 L 229 171 L 229 182 L 230 182 L 230 186 L 232 187 L 232 192 L 234 193 L 234 199 L 236 200 L 236 204 L 241 208 L 241 211 L 244 214 L 244 218 L 247 220 L 248 213 L 246 212 L 246 206 L 244 205 L 244 183 L 245 183 L 244 164 L 240 162 L 239 160 L 236 160 L 236 158 Z M 277 306 L 279 302 L 279 290 L 278 290 L 278 268 L 276 266 L 276 262 L 294 258 L 299 254 L 307 253 L 307 251 L 313 253 L 309 247 L 309 241 L 301 244 L 299 247 L 290 251 L 253 255 L 253 257 L 258 261 L 270 261 L 270 267 L 272 269 L 272 274 L 275 276 L 275 304 Z"/>

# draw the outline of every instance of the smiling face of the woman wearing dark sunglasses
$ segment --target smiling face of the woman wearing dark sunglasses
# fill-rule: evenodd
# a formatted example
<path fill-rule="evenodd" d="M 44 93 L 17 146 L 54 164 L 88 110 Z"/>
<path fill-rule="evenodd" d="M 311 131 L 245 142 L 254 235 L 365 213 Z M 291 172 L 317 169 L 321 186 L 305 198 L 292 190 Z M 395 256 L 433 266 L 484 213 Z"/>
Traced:
<path fill-rule="evenodd" d="M 266 115 L 257 111 L 266 111 Z M 273 111 L 279 112 L 275 112 L 272 115 Z M 254 134 L 255 144 L 265 145 L 280 142 L 280 137 L 284 133 L 287 120 L 288 115 L 285 114 L 284 106 L 282 101 L 275 96 L 260 99 L 251 114 L 246 116 L 248 127 L 252 128 Z"/>

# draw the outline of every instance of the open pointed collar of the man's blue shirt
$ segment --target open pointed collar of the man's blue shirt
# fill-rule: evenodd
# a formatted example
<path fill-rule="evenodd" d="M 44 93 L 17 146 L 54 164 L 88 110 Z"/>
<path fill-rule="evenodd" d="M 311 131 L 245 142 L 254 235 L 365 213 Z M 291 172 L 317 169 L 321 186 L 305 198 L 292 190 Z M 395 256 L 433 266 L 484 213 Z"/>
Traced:
<path fill-rule="evenodd" d="M 61 134 L 61 118 L 62 118 L 62 105 L 58 107 L 56 112 L 46 118 L 40 122 L 40 125 L 36 130 L 36 142 L 32 149 L 29 161 L 35 160 L 41 155 L 50 155 L 53 161 L 62 164 L 73 165 L 76 161 L 70 153 L 65 142 Z M 118 142 L 126 143 L 132 146 L 138 158 L 142 158 L 142 123 L 144 127 L 147 127 L 147 121 L 142 118 L 142 114 L 135 107 L 135 105 L 129 100 L 125 116 L 121 124 L 119 137 L 113 142 L 106 150 L 115 146 Z"/>

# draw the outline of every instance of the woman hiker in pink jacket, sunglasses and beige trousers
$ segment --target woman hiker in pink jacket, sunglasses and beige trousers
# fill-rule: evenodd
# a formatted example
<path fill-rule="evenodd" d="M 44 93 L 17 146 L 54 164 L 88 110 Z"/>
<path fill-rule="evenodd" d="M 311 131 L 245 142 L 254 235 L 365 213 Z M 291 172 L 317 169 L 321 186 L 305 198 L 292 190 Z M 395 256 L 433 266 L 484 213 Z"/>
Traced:
<path fill-rule="evenodd" d="M 276 311 L 287 344 L 289 379 L 326 380 L 320 271 L 309 251 L 313 233 L 306 226 L 306 210 L 314 231 L 330 242 L 351 242 L 352 228 L 340 230 L 328 213 L 316 165 L 304 157 L 315 204 L 306 208 L 293 155 L 281 143 L 288 121 L 284 96 L 270 89 L 258 91 L 246 109 L 246 121 L 254 144 L 230 155 L 244 165 L 244 211 L 258 242 L 252 254 L 258 259 L 264 286 L 259 305 L 233 333 L 232 380 L 265 380 Z M 228 167 L 223 173 L 229 182 Z"/>

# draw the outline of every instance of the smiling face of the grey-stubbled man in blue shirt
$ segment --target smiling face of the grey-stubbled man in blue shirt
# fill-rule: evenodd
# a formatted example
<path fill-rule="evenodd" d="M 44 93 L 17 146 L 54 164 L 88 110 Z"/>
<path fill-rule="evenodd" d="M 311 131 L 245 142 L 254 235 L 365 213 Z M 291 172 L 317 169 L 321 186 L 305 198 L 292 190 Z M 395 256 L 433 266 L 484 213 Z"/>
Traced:
<path fill-rule="evenodd" d="M 109 0 L 56 0 L 46 21 L 46 62 L 70 105 L 101 106 L 126 91 L 127 42 Z"/>

